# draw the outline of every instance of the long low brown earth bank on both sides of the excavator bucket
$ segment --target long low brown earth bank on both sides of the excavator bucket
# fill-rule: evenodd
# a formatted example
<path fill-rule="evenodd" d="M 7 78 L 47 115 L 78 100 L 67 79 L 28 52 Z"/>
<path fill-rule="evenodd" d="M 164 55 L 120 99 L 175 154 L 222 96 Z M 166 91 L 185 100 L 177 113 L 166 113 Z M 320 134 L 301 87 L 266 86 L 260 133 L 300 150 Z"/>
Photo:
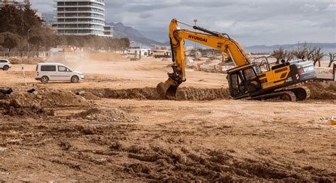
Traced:
<path fill-rule="evenodd" d="M 155 88 L 141 89 L 84 89 L 91 94 L 101 98 L 108 99 L 144 99 L 144 100 L 159 100 L 161 97 L 157 94 Z M 196 88 L 180 88 L 177 91 L 178 100 L 194 100 L 207 101 L 216 99 L 230 99 L 228 89 L 196 89 Z"/>

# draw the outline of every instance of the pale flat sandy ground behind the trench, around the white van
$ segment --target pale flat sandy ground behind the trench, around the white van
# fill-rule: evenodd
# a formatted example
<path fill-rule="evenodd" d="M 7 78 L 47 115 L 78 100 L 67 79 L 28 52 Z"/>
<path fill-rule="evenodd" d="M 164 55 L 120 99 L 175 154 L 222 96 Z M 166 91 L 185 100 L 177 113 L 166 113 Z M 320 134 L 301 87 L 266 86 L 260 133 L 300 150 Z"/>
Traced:
<path fill-rule="evenodd" d="M 83 62 L 63 62 L 73 70 L 84 72 L 85 82 L 79 84 L 50 83 L 50 88 L 113 88 L 130 89 L 139 87 L 156 87 L 159 82 L 168 78 L 167 72 L 172 72 L 171 61 L 162 61 L 153 58 L 141 61 L 101 61 L 83 60 Z M 13 87 L 24 83 L 22 67 L 27 75 L 28 84 L 35 81 L 36 65 L 13 65 L 9 72 L 0 71 L 1 85 Z M 225 74 L 196 72 L 188 69 L 188 82 L 185 87 L 219 88 L 227 87 Z M 201 74 L 200 74 L 201 73 Z M 5 79 L 6 78 L 6 79 Z"/>

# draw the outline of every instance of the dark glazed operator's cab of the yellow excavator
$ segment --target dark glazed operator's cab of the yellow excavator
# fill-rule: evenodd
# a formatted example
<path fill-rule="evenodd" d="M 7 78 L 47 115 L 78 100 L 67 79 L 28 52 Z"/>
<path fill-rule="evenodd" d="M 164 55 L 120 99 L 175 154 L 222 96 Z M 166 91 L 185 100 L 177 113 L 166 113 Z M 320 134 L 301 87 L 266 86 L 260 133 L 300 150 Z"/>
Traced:
<path fill-rule="evenodd" d="M 262 89 L 253 65 L 243 65 L 228 70 L 230 94 L 233 99 L 241 99 Z"/>

